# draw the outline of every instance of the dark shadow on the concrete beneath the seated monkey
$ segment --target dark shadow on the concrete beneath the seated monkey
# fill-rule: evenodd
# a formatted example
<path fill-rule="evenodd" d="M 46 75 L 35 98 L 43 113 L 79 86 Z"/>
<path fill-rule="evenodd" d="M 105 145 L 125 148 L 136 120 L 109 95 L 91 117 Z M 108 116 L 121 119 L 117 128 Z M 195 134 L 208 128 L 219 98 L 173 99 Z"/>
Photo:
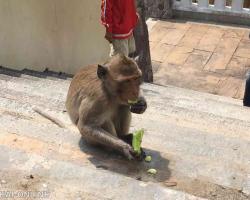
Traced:
<path fill-rule="evenodd" d="M 144 149 L 147 155 L 152 156 L 152 161 L 128 161 L 122 155 L 115 151 L 103 150 L 100 147 L 94 147 L 87 144 L 83 138 L 79 141 L 81 151 L 90 155 L 89 161 L 97 169 L 108 170 L 119 173 L 140 181 L 164 182 L 171 177 L 168 168 L 169 160 L 161 156 L 161 153 L 152 149 Z M 150 175 L 147 170 L 157 169 L 156 175 Z"/>

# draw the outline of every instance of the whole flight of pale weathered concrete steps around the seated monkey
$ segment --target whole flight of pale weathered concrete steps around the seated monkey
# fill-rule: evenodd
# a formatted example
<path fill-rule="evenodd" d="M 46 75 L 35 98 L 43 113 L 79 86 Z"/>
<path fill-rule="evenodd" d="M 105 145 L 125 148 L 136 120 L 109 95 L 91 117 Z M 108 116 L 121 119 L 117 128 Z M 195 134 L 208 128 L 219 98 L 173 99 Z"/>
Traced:
<path fill-rule="evenodd" d="M 148 109 L 133 115 L 131 131 L 145 129 L 143 147 L 153 159 L 137 163 L 83 141 L 65 112 L 69 83 L 63 76 L 0 68 L 0 195 L 10 191 L 16 198 L 9 199 L 19 199 L 13 192 L 40 191 L 50 200 L 250 199 L 250 110 L 241 101 L 143 85 Z M 41 117 L 34 106 L 67 128 Z M 149 168 L 158 173 L 147 174 Z"/>

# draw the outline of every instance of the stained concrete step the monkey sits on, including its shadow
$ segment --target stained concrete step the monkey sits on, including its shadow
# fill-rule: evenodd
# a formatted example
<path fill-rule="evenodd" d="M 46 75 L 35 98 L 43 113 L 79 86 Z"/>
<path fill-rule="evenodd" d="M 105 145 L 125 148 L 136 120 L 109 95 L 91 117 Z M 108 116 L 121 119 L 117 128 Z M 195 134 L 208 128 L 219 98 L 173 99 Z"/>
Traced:
<path fill-rule="evenodd" d="M 143 124 L 137 124 L 133 129 L 145 128 L 143 146 L 147 154 L 152 155 L 153 161 L 150 164 L 135 164 L 128 163 L 119 155 L 89 147 L 81 141 L 80 134 L 67 129 L 7 114 L 2 115 L 0 120 L 2 145 L 36 153 L 47 159 L 81 163 L 90 168 L 101 167 L 163 185 L 169 178 L 185 185 L 196 179 L 235 191 L 247 193 L 249 190 L 247 149 L 250 144 L 244 140 L 210 136 L 145 118 Z M 146 173 L 151 167 L 158 170 L 153 178 Z"/>

